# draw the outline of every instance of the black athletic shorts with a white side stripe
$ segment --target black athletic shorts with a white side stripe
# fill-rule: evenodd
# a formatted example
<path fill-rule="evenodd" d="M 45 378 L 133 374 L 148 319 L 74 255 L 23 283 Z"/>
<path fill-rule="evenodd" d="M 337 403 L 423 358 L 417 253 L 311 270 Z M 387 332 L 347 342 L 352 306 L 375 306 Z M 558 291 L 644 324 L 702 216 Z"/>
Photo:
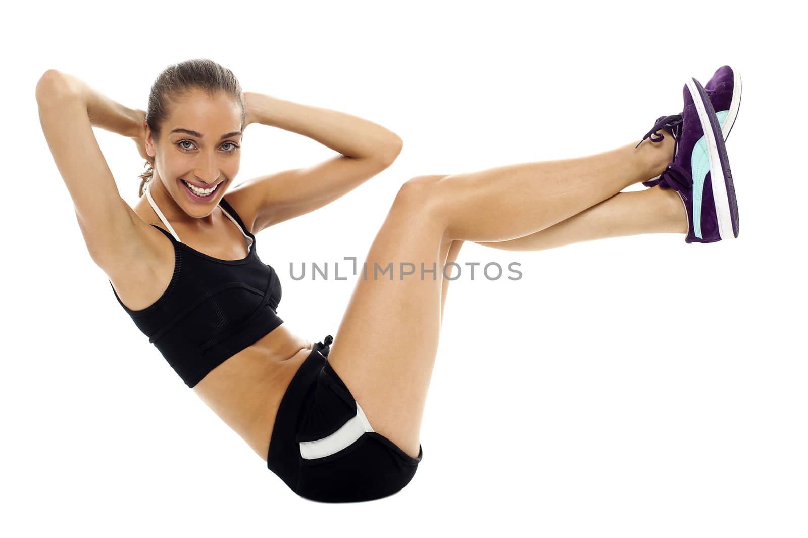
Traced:
<path fill-rule="evenodd" d="M 414 458 L 373 431 L 325 358 L 332 341 L 329 335 L 315 343 L 289 383 L 272 430 L 267 467 L 313 501 L 369 501 L 394 494 L 415 476 L 423 448 L 419 443 Z"/>

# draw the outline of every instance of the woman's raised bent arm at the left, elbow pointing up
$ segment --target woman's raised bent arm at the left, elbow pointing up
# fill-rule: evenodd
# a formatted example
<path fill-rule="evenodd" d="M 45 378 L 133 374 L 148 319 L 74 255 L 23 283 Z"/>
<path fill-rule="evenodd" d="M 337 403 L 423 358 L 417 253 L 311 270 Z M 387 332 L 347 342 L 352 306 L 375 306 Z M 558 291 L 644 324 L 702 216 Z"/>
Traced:
<path fill-rule="evenodd" d="M 92 125 L 137 136 L 137 111 L 72 75 L 48 69 L 36 85 L 40 123 L 53 160 L 73 199 L 78 225 L 95 263 L 109 274 L 150 259 L 142 220 L 120 197 Z M 137 217 L 137 218 L 135 218 Z"/>

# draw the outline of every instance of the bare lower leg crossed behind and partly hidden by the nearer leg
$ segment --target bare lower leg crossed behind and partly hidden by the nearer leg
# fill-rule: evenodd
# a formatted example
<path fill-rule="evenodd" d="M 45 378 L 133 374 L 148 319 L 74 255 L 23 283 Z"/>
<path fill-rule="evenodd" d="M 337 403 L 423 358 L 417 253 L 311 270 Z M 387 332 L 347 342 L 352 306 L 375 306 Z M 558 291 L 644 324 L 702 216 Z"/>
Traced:
<path fill-rule="evenodd" d="M 544 250 L 640 233 L 688 233 L 688 213 L 676 191 L 658 185 L 645 191 L 618 192 L 541 232 L 478 243 L 503 250 Z"/>

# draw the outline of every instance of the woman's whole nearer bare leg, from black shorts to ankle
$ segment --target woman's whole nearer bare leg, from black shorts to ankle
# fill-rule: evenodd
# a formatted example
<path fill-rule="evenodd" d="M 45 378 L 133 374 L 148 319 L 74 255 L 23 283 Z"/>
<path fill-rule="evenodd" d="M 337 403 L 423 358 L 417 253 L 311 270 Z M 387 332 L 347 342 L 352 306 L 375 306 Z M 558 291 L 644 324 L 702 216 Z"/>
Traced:
<path fill-rule="evenodd" d="M 370 246 L 328 359 L 372 427 L 418 456 L 441 273 L 449 252 L 457 255 L 456 241 L 500 242 L 546 229 L 654 177 L 672 154 L 666 136 L 637 149 L 406 182 Z"/>

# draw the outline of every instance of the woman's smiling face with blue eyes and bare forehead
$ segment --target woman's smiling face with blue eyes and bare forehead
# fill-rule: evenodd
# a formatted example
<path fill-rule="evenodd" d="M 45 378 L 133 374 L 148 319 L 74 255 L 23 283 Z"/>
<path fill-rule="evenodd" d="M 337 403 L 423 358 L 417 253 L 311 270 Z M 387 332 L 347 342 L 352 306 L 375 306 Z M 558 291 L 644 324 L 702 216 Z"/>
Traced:
<path fill-rule="evenodd" d="M 242 110 L 225 93 L 213 98 L 191 90 L 175 99 L 155 145 L 146 135 L 146 150 L 154 156 L 154 180 L 162 184 L 189 216 L 207 216 L 238 174 L 241 162 Z M 195 191 L 187 183 L 203 189 Z M 208 194 L 208 190 L 215 190 Z"/>

